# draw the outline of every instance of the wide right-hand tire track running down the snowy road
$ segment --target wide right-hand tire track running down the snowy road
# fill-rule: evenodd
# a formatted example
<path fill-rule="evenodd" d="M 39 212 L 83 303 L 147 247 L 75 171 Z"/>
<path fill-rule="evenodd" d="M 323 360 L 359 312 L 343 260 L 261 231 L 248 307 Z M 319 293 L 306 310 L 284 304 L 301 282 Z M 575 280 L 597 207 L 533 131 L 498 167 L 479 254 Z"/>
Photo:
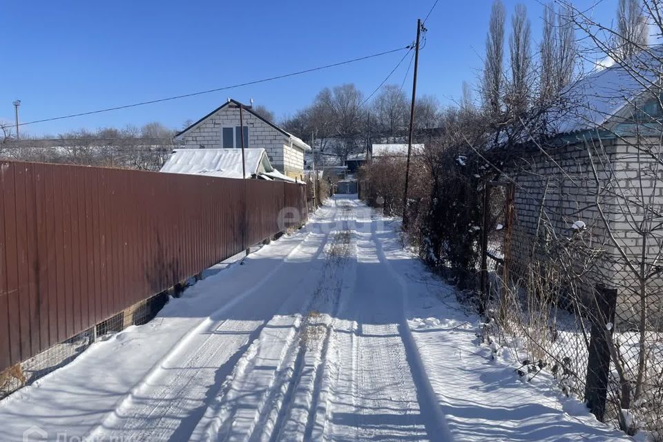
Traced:
<path fill-rule="evenodd" d="M 408 366 L 398 331 L 404 318 L 403 293 L 392 269 L 379 257 L 371 214 L 366 206 L 356 209 L 356 218 L 370 219 L 371 229 L 357 232 L 359 276 L 334 333 L 338 368 L 320 439 L 441 440 Z"/>

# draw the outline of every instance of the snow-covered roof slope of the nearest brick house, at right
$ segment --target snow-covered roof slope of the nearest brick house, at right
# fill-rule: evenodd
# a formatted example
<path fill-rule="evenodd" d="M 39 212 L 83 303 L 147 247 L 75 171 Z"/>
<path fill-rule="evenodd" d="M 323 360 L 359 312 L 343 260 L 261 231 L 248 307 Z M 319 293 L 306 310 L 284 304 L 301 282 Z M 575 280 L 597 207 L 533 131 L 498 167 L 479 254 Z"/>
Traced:
<path fill-rule="evenodd" d="M 571 133 L 598 128 L 608 124 L 615 115 L 624 111 L 641 95 L 650 81 L 657 81 L 655 63 L 663 52 L 663 45 L 641 52 L 628 64 L 631 69 L 620 64 L 600 67 L 595 72 L 579 79 L 563 93 L 566 97 L 565 107 L 553 118 L 557 133 Z M 637 75 L 633 75 L 633 70 Z"/>

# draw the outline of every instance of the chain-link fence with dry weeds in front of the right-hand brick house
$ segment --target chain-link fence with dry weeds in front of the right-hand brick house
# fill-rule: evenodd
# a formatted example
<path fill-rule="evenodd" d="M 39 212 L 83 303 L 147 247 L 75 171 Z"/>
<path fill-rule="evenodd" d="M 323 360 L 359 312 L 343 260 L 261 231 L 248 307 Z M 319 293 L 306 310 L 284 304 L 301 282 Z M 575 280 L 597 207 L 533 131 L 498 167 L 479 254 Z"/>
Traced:
<path fill-rule="evenodd" d="M 599 420 L 663 440 L 660 266 L 609 253 L 582 224 L 560 236 L 541 216 L 526 231 L 511 193 L 484 193 L 484 340 L 512 352 L 528 381 L 548 372 Z"/>

